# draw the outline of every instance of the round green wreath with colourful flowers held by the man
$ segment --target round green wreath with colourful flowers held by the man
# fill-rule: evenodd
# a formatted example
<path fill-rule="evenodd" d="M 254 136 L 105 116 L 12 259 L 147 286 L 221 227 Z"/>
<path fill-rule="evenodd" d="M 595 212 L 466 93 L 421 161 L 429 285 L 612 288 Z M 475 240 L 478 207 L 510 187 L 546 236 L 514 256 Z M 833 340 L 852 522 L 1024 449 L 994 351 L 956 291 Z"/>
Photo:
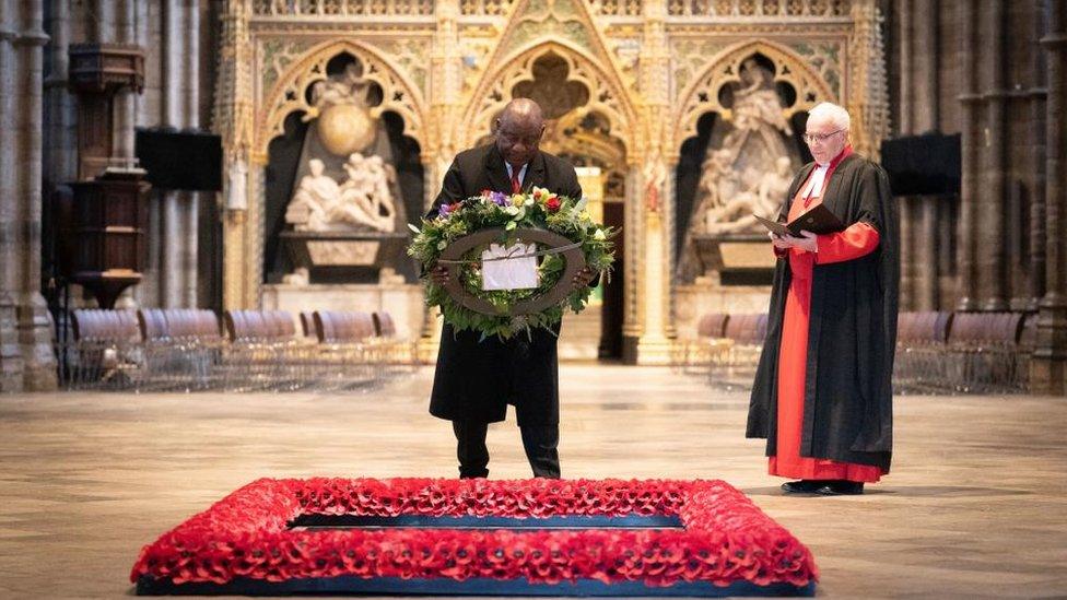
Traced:
<path fill-rule="evenodd" d="M 512 195 L 483 190 L 480 196 L 442 205 L 436 216 L 422 221 L 421 228 L 414 225 L 409 227 L 415 236 L 408 254 L 421 262 L 427 272 L 437 264 L 442 250 L 449 244 L 488 227 L 504 228 L 505 239 L 501 242 L 506 240 L 507 232 L 516 228 L 548 230 L 581 244 L 586 266 L 594 272 L 608 273 L 611 268 L 611 236 L 614 231 L 593 221 L 586 212 L 585 199 L 558 196 L 544 188 L 534 187 L 529 193 Z M 544 255 L 538 266 L 539 284 L 536 289 L 483 291 L 480 250 L 471 250 L 464 257 L 464 268 L 459 270 L 460 283 L 467 293 L 490 302 L 501 314 L 483 315 L 471 310 L 432 281 L 426 290 L 426 304 L 439 306 L 445 320 L 457 331 L 479 331 L 483 339 L 489 336 L 508 339 L 520 331 L 528 333 L 532 328 L 550 329 L 563 318 L 564 307 L 581 311 L 593 292 L 590 287 L 581 287 L 560 305 L 541 313 L 509 315 L 508 308 L 515 303 L 544 294 L 560 283 L 564 261 L 559 255 Z"/>

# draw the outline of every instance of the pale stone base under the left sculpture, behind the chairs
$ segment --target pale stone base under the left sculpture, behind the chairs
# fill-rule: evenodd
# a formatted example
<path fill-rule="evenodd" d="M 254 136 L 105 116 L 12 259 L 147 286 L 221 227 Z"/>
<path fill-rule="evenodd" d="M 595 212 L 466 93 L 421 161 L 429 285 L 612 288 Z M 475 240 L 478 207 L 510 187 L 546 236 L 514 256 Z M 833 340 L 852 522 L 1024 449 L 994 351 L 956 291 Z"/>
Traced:
<path fill-rule="evenodd" d="M 397 337 L 414 340 L 422 332 L 425 306 L 422 286 L 408 283 L 344 283 L 263 285 L 265 310 L 289 310 L 297 320 L 310 310 L 388 310 L 397 325 Z"/>

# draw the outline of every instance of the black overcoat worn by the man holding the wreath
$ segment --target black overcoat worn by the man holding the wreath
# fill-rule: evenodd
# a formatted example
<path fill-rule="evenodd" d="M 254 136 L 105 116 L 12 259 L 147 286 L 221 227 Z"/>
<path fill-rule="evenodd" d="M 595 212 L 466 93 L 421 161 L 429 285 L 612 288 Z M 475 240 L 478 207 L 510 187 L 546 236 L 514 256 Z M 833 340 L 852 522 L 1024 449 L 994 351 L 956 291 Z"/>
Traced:
<path fill-rule="evenodd" d="M 539 152 L 530 161 L 523 190 L 532 186 L 560 196 L 582 197 L 582 186 L 570 163 Z M 443 203 L 452 203 L 482 190 L 512 192 L 504 158 L 495 144 L 459 153 L 445 174 L 441 193 L 429 215 Z M 556 336 L 534 329 L 501 341 L 495 336 L 479 341 L 481 333 L 455 331 L 445 323 L 437 351 L 430 413 L 449 421 L 503 421 L 507 404 L 515 405 L 519 425 L 550 425 L 560 422 L 560 383 Z"/>

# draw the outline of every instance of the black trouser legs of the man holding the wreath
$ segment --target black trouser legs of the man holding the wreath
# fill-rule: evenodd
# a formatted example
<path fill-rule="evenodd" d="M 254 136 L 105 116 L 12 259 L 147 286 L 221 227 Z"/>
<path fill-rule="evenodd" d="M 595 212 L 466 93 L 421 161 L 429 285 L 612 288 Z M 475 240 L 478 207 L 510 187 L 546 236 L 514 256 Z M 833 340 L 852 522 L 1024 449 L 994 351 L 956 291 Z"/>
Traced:
<path fill-rule="evenodd" d="M 459 458 L 461 479 L 489 477 L 489 448 L 485 447 L 488 423 L 453 421 L 452 431 L 456 434 L 456 455 Z M 560 479 L 560 426 L 528 425 L 519 427 L 523 433 L 523 449 L 530 461 L 536 478 Z"/>

